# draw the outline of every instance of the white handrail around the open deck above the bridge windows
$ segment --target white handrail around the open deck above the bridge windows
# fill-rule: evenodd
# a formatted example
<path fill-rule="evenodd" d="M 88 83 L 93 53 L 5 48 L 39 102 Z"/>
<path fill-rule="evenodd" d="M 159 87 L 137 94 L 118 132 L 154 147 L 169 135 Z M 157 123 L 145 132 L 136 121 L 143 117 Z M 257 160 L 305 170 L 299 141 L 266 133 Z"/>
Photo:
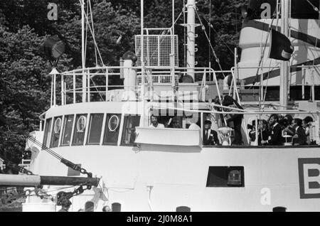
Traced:
<path fill-rule="evenodd" d="M 113 75 L 120 75 L 120 69 L 130 68 L 132 70 L 136 70 L 137 72 L 137 80 L 136 85 L 108 85 L 107 77 L 112 77 Z M 144 68 L 145 70 L 148 70 L 151 72 L 151 75 L 149 76 L 152 80 L 151 83 L 147 82 L 147 86 L 151 87 L 159 87 L 159 88 L 173 88 L 173 81 L 178 82 L 179 75 L 186 75 L 188 72 L 187 70 L 190 68 L 175 68 L 174 75 L 172 74 L 172 67 L 148 67 L 146 66 Z M 208 75 L 211 77 L 213 75 L 214 80 L 216 82 L 217 78 L 215 76 L 215 71 L 212 68 L 193 68 L 196 73 L 202 76 L 202 82 L 201 84 L 199 82 L 194 82 L 193 84 L 188 84 L 186 87 L 194 89 L 200 92 L 203 92 L 202 97 L 198 97 L 198 100 L 206 100 L 206 78 Z M 114 91 L 110 91 L 110 88 L 115 88 L 117 90 L 133 90 L 134 92 L 137 92 L 137 95 L 142 95 L 140 90 L 140 84 L 144 76 L 142 76 L 142 68 L 141 67 L 124 67 L 124 66 L 101 66 L 101 67 L 93 67 L 93 68 L 79 68 L 67 72 L 62 72 L 60 74 L 61 80 L 57 80 L 58 77 L 55 75 L 52 81 L 52 89 L 56 90 L 57 92 L 51 93 L 51 99 L 57 99 L 57 95 L 61 95 L 61 105 L 65 104 L 75 104 L 77 102 L 81 102 L 78 97 L 83 95 L 84 93 L 88 97 L 87 102 L 90 102 L 92 98 L 94 98 L 94 101 L 107 101 L 105 97 L 107 95 L 112 94 Z M 82 87 L 82 75 L 87 75 L 87 86 Z M 71 79 L 70 79 L 71 78 Z M 174 80 L 173 80 L 174 79 Z M 103 82 L 105 81 L 105 82 Z M 58 83 L 61 82 L 61 85 Z M 100 82 L 103 82 L 103 85 L 101 85 Z M 216 84 L 217 90 L 219 89 L 218 83 Z M 73 93 L 73 96 L 70 96 L 70 93 Z M 218 90 L 219 97 L 220 92 Z M 95 99 L 92 95 L 100 95 L 101 99 Z M 102 97 L 103 96 L 103 97 Z M 119 97 L 120 98 L 120 97 Z M 72 101 L 73 99 L 73 101 Z M 137 98 L 141 99 L 141 98 Z M 83 102 L 83 98 L 82 98 Z M 51 103 L 51 106 L 55 106 L 55 104 L 58 103 Z"/>

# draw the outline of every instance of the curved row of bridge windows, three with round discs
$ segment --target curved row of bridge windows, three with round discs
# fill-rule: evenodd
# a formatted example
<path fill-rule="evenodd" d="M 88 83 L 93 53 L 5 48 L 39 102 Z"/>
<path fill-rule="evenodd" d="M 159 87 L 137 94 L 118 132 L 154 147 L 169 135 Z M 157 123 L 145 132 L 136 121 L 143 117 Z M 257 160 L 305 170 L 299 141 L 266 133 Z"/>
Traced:
<path fill-rule="evenodd" d="M 46 119 L 43 145 L 58 146 L 117 145 L 121 114 L 69 114 Z M 121 144 L 132 145 L 139 115 L 124 115 Z M 101 143 L 100 143 L 101 141 Z"/>

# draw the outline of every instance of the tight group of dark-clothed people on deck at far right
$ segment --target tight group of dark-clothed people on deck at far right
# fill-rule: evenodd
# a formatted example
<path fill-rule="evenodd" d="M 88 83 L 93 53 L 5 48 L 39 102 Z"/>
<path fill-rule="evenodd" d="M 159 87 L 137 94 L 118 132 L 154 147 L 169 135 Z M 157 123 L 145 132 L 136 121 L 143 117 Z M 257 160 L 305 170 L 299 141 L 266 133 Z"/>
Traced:
<path fill-rule="evenodd" d="M 284 117 L 282 115 L 272 114 L 268 122 L 264 119 L 258 120 L 257 143 L 260 146 L 313 144 L 310 140 L 310 125 L 313 121 L 314 120 L 310 116 L 307 116 L 304 119 L 293 119 L 290 114 L 287 114 Z M 250 141 L 255 142 L 255 121 L 252 122 L 252 125 L 248 125 L 248 129 L 250 129 Z"/>

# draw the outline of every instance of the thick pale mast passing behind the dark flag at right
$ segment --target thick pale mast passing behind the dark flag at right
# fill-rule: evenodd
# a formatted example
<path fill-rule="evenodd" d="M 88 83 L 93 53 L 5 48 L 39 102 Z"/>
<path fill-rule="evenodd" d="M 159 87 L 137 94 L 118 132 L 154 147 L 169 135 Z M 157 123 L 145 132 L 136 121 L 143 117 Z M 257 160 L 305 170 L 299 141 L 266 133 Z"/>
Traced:
<path fill-rule="evenodd" d="M 289 38 L 289 7 L 290 0 L 281 1 L 281 33 Z M 280 109 L 287 109 L 288 105 L 288 77 L 289 61 L 281 61 L 280 68 Z"/>

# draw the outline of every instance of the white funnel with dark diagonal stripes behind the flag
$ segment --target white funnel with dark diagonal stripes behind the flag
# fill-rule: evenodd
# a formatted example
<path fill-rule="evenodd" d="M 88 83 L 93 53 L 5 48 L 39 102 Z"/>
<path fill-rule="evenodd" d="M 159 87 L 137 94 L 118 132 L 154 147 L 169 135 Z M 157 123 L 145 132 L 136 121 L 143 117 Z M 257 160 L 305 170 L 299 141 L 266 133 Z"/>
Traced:
<path fill-rule="evenodd" d="M 296 18 L 290 18 L 290 20 L 292 31 L 299 31 L 300 33 L 305 33 L 309 36 L 313 36 L 318 39 L 320 38 L 319 26 L 317 25 L 318 22 L 316 20 Z M 257 21 L 267 23 L 267 25 L 265 25 L 267 27 L 271 23 L 272 19 L 264 19 Z M 276 23 L 276 20 L 274 20 L 272 24 L 277 27 L 281 26 L 280 20 L 279 23 Z M 240 80 L 247 80 L 249 77 L 255 77 L 261 54 L 261 37 L 266 36 L 267 31 L 261 31 L 257 28 L 252 28 L 250 26 L 246 26 L 245 28 L 242 28 L 242 30 L 240 31 L 239 46 L 242 49 L 240 58 L 241 60 L 238 63 L 238 72 Z M 294 46 L 294 58 L 292 58 L 290 61 L 291 65 L 302 64 L 307 61 L 314 60 L 315 58 L 318 58 L 317 56 L 320 55 L 320 49 L 314 47 L 314 45 L 310 45 L 309 43 L 306 43 L 296 38 L 290 38 L 290 41 Z M 265 40 L 262 40 L 262 42 L 265 43 Z M 268 58 L 269 50 L 270 39 L 267 41 L 267 48 L 265 50 L 265 55 L 263 58 L 263 73 L 267 73 L 271 70 L 277 70 L 280 66 L 279 60 Z M 302 66 L 298 66 L 297 68 L 302 68 Z M 313 66 L 305 65 L 304 68 L 306 68 L 305 84 L 320 85 L 320 76 L 317 75 L 317 73 L 315 73 L 316 76 L 314 76 L 314 80 L 312 80 Z M 316 68 L 319 68 L 319 65 L 316 65 Z M 299 85 L 302 83 L 302 73 L 299 72 L 299 70 L 297 72 L 294 70 L 290 73 L 290 76 L 290 85 Z M 259 83 L 260 81 L 257 82 L 257 85 L 259 85 Z M 269 80 L 263 81 L 264 86 L 279 86 L 279 84 L 279 75 L 275 77 L 270 77 Z"/>

